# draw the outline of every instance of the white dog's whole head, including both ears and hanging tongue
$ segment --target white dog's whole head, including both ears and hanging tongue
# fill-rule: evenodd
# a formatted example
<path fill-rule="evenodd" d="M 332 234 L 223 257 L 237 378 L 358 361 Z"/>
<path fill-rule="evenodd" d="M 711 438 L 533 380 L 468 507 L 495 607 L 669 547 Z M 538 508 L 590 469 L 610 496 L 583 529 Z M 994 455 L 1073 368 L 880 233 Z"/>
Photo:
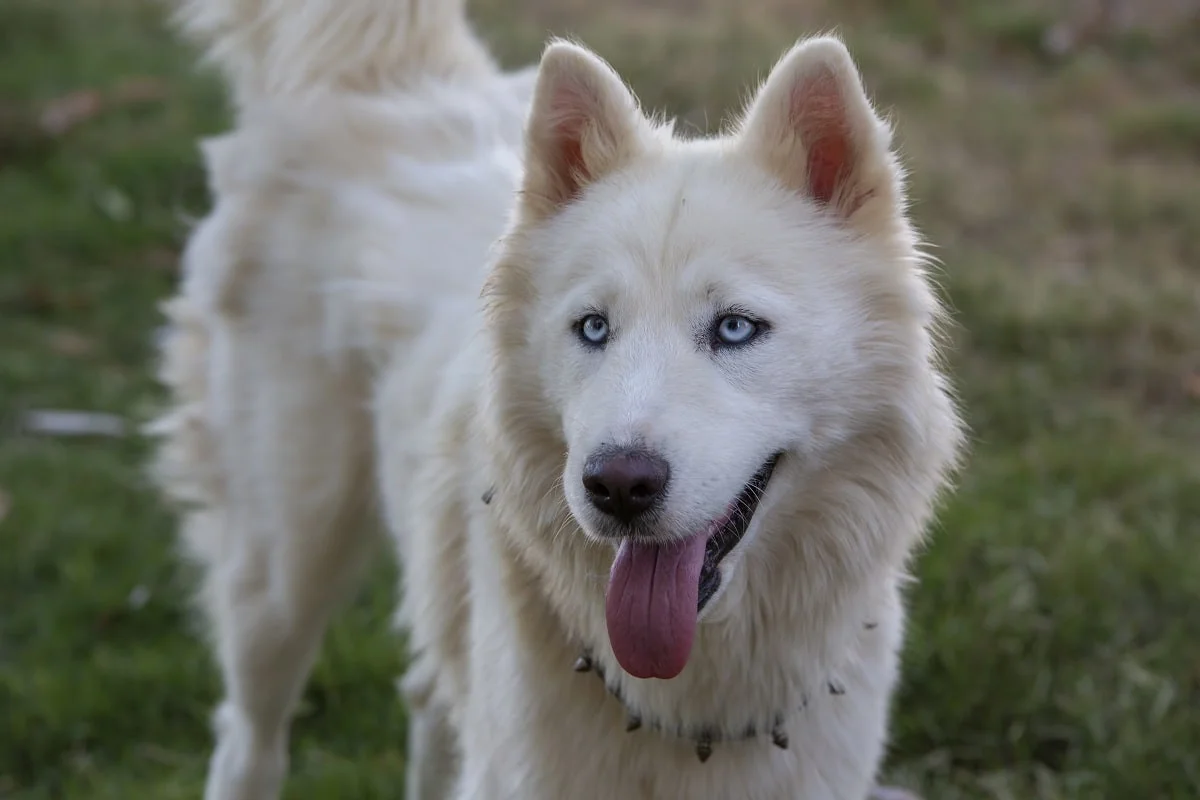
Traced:
<path fill-rule="evenodd" d="M 697 610 L 754 585 L 746 552 L 805 535 L 822 470 L 883 441 L 874 456 L 940 475 L 954 426 L 931 422 L 953 417 L 931 362 L 936 302 L 890 132 L 836 40 L 798 44 L 736 131 L 696 142 L 648 120 L 600 59 L 554 43 L 527 138 L 487 287 L 511 369 L 498 402 L 524 428 L 514 438 L 565 445 L 570 512 L 614 547 L 622 664 L 671 676 Z"/>

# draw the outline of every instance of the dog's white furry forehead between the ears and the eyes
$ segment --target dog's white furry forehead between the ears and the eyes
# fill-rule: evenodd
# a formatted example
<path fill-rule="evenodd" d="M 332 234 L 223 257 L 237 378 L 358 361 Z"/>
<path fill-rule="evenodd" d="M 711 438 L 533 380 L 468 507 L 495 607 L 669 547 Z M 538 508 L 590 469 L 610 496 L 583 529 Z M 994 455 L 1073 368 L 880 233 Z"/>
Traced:
<path fill-rule="evenodd" d="M 792 294 L 848 260 L 842 230 L 745 160 L 684 155 L 647 160 L 563 215 L 545 243 L 570 294 L 660 306 Z"/>

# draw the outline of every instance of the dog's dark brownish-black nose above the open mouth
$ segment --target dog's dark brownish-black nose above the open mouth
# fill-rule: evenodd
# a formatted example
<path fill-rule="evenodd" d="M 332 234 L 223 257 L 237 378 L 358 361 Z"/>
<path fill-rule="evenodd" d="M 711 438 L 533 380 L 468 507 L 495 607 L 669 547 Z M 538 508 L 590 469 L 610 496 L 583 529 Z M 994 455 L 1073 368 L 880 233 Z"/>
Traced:
<path fill-rule="evenodd" d="M 583 488 L 592 505 L 629 524 L 666 493 L 671 467 L 648 450 L 601 449 L 583 464 Z"/>

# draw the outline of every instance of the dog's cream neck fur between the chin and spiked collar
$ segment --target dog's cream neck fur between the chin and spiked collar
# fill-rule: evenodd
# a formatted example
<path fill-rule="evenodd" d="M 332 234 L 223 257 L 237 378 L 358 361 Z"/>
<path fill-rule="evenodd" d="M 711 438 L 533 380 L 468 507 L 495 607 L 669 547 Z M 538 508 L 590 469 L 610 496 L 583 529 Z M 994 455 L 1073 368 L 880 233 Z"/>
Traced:
<path fill-rule="evenodd" d="M 481 499 L 491 505 L 493 492 Z M 556 521 L 554 529 L 563 530 L 565 524 Z M 619 667 L 607 642 L 596 576 L 607 573 L 605 559 L 611 557 L 590 546 L 566 543 L 582 541 L 582 534 L 556 537 L 559 547 L 542 552 L 542 557 L 554 552 L 552 563 L 527 560 L 528 552 L 527 559 L 518 559 L 522 571 L 532 567 L 541 573 L 538 583 L 558 618 L 563 646 L 577 654 L 574 664 L 569 656 L 560 669 L 568 673 L 574 666 L 580 681 L 600 678 L 612 702 L 624 710 L 626 732 L 689 741 L 701 762 L 721 742 L 758 740 L 764 747 L 787 748 L 787 730 L 803 724 L 810 700 L 838 702 L 857 691 L 854 651 L 864 644 L 874 649 L 872 639 L 880 634 L 888 638 L 875 616 L 875 612 L 888 615 L 888 589 L 880 595 L 860 590 L 853 597 L 834 597 L 840 593 L 812 585 L 793 596 L 785 587 L 794 585 L 794 576 L 764 573 L 755 591 L 767 596 L 739 603 L 738 619 L 744 624 L 703 624 L 708 630 L 697 637 L 683 674 L 670 681 L 638 680 Z M 576 590 L 552 589 L 568 585 Z M 577 591 L 578 587 L 590 589 Z M 722 632 L 726 625 L 733 627 Z"/>

